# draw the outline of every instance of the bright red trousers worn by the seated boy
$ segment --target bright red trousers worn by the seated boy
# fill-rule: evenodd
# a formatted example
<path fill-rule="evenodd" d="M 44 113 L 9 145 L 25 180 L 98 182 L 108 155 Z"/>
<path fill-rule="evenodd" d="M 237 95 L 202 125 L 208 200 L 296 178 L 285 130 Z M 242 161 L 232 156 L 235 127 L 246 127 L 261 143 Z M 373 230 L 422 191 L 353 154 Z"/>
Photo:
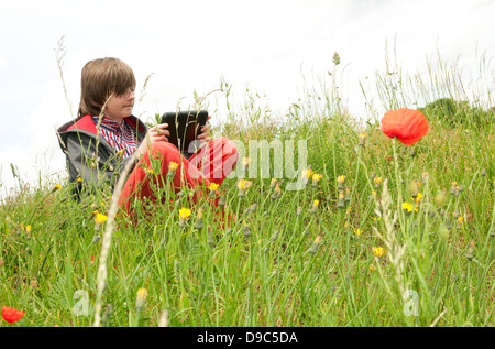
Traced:
<path fill-rule="evenodd" d="M 152 162 L 155 163 L 154 167 Z M 198 196 L 207 200 L 211 199 L 209 196 L 210 184 L 220 185 L 232 172 L 238 162 L 238 150 L 229 139 L 218 138 L 208 142 L 187 160 L 172 143 L 151 144 L 129 175 L 119 197 L 120 207 L 127 215 L 133 216 L 134 200 L 144 198 L 148 198 L 151 201 L 156 200 L 152 187 L 167 183 L 170 162 L 178 164 L 175 176 L 172 178 L 175 193 L 180 192 L 183 187 L 196 189 L 193 200 L 197 203 Z M 156 165 L 160 167 L 156 168 Z M 218 197 L 212 200 L 212 205 L 218 205 Z"/>

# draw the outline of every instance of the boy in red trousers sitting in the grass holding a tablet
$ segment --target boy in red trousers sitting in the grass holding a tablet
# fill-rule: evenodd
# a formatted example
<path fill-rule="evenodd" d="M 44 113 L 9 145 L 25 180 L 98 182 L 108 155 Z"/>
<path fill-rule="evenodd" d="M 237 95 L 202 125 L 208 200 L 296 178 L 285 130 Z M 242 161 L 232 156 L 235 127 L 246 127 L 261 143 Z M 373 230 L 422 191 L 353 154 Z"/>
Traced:
<path fill-rule="evenodd" d="M 131 155 L 138 152 L 139 162 L 132 164 L 133 170 L 119 197 L 127 214 L 132 215 L 134 199 L 156 199 L 150 181 L 154 185 L 166 183 L 172 163 L 178 164 L 173 177 L 176 192 L 187 186 L 199 188 L 195 190 L 195 201 L 196 195 L 207 197 L 204 188 L 211 183 L 220 185 L 235 166 L 235 145 L 226 138 L 210 141 L 206 126 L 198 139 L 208 143 L 189 160 L 185 159 L 168 143 L 168 124 L 147 129 L 132 114 L 134 88 L 134 73 L 118 58 L 99 58 L 84 66 L 78 117 L 57 130 L 61 148 L 67 156 L 69 181 L 76 182 L 77 193 L 82 184 L 94 188 L 108 183 L 113 187 L 132 161 Z M 152 159 L 161 160 L 160 173 L 155 175 L 148 173 Z"/>

